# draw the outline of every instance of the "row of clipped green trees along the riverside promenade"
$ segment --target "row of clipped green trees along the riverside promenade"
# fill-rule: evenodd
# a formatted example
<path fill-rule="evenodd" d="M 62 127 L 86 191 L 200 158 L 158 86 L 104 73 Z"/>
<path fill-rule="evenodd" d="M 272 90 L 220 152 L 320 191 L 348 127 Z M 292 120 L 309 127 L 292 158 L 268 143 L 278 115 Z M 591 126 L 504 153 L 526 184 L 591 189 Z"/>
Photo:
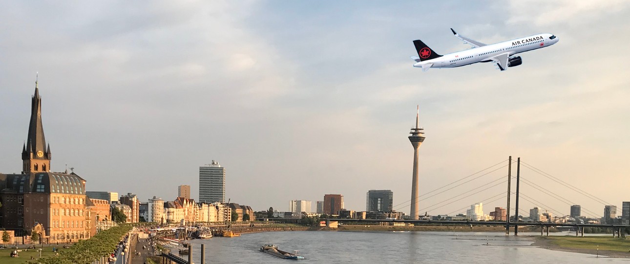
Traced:
<path fill-rule="evenodd" d="M 99 260 L 101 256 L 110 255 L 110 253 L 116 249 L 120 239 L 131 229 L 131 226 L 125 224 L 100 231 L 89 239 L 75 243 L 71 248 L 59 249 L 58 256 L 41 258 L 37 261 L 31 261 L 30 263 L 89 264 L 92 261 Z"/>

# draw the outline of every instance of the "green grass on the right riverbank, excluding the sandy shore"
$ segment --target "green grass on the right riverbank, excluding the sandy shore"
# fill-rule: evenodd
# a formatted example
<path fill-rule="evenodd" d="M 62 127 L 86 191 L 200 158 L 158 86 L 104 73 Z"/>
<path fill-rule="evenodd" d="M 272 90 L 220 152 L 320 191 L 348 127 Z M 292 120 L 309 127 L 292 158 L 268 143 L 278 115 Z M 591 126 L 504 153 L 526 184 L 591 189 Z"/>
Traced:
<path fill-rule="evenodd" d="M 570 236 L 549 236 L 551 243 L 561 248 L 575 248 L 585 250 L 610 250 L 619 252 L 630 251 L 630 240 L 624 238 L 611 238 L 607 236 L 597 237 L 570 237 Z"/>

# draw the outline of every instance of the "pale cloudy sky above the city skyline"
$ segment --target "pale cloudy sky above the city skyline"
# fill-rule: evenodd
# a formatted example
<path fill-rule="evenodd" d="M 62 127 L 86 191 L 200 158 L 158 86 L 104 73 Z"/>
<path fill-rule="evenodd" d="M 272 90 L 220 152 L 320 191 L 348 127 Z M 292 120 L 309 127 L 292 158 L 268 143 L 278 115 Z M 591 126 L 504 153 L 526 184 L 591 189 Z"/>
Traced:
<path fill-rule="evenodd" d="M 0 171 L 21 171 L 38 72 L 52 171 L 74 168 L 88 191 L 174 200 L 185 184 L 197 199 L 198 168 L 216 160 L 226 200 L 254 210 L 289 210 L 289 200 L 314 210 L 333 193 L 360 211 L 368 190 L 392 190 L 408 214 L 419 105 L 422 213 L 505 207 L 507 184 L 496 184 L 513 156 L 544 188 L 520 185 L 531 199 L 522 215 L 567 215 L 571 204 L 621 214 L 629 14 L 615 0 L 4 1 Z M 415 39 L 439 54 L 471 48 L 449 28 L 484 43 L 536 33 L 559 42 L 507 71 L 412 67 Z"/>

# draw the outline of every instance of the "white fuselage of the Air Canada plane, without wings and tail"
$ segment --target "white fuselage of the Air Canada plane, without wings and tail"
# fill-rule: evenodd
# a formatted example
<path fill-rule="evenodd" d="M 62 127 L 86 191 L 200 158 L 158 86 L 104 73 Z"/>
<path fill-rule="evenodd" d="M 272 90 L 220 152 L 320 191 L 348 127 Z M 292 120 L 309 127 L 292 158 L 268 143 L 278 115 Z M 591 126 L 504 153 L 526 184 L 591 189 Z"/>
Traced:
<path fill-rule="evenodd" d="M 550 39 L 550 37 L 553 38 Z M 511 57 L 521 52 L 551 46 L 557 43 L 558 40 L 559 38 L 554 37 L 554 35 L 552 34 L 540 33 L 528 37 L 515 38 L 513 40 L 507 40 L 504 42 L 498 42 L 481 47 L 462 50 L 459 52 L 445 54 L 442 57 L 438 57 L 435 59 L 416 62 L 415 64 L 413 64 L 413 67 L 427 67 L 428 65 L 430 65 L 430 67 L 432 68 L 453 68 L 474 64 L 477 62 L 492 62 L 493 58 L 498 55 L 507 54 L 508 57 Z"/>

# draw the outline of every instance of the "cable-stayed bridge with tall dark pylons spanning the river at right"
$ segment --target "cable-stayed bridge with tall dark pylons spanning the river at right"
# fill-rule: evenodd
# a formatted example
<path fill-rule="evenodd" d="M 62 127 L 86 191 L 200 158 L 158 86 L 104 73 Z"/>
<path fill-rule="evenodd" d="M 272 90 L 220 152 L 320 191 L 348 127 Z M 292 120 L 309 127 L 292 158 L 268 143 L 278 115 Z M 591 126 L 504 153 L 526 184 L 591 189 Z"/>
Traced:
<path fill-rule="evenodd" d="M 513 167 L 516 167 L 515 169 Z M 522 168 L 521 168 L 522 167 Z M 507 174 L 506 174 L 507 172 Z M 525 176 L 527 175 L 527 176 Z M 522 185 L 521 185 L 522 183 Z M 515 199 L 514 199 L 515 198 Z M 470 175 L 463 176 L 452 181 L 442 187 L 435 188 L 429 192 L 419 192 L 417 200 L 420 202 L 419 212 L 425 212 L 425 215 L 438 215 L 437 213 L 445 209 L 449 215 L 449 220 L 462 219 L 463 217 L 450 217 L 454 214 L 462 215 L 467 209 L 473 209 L 475 204 L 496 204 L 498 201 L 505 201 L 505 210 L 501 221 L 493 221 L 484 219 L 484 221 L 460 220 L 445 221 L 445 218 L 439 218 L 438 221 L 425 216 L 423 220 L 402 220 L 402 219 L 385 219 L 385 220 L 360 220 L 356 219 L 331 219 L 341 222 L 404 222 L 408 224 L 438 224 L 438 225 L 483 225 L 483 226 L 505 226 L 506 233 L 510 227 L 513 227 L 515 234 L 518 234 L 518 226 L 541 226 L 541 234 L 544 227 L 565 226 L 577 227 L 576 234 L 581 230 L 583 234 L 584 227 L 609 227 L 621 234 L 621 229 L 628 227 L 629 219 L 619 219 L 610 217 L 611 214 L 597 214 L 591 207 L 581 206 L 580 214 L 585 217 L 571 217 L 569 212 L 573 205 L 580 205 L 588 202 L 590 204 L 601 204 L 604 207 L 610 207 L 610 202 L 599 198 L 592 193 L 571 185 L 559 177 L 553 176 L 536 166 L 526 163 L 518 158 L 517 161 L 512 157 L 500 161 L 492 166 L 488 166 L 480 171 Z M 519 205 L 519 202 L 521 203 Z M 403 211 L 410 206 L 411 199 L 400 204 L 394 205 L 393 210 Z M 549 206 L 555 204 L 555 207 Z M 557 204 L 566 204 L 566 209 L 557 208 Z M 528 209 L 534 207 L 538 209 L 539 214 L 546 212 L 549 219 L 541 221 L 539 219 L 528 219 L 518 217 L 523 212 L 523 205 Z M 461 208 L 460 208 L 461 207 Z M 473 208 L 471 208 L 473 207 Z M 520 207 L 520 208 L 519 208 Z M 459 208 L 452 210 L 452 208 Z M 621 209 L 622 207 L 617 207 Z M 532 210 L 534 210 L 532 209 Z M 609 208 L 610 209 L 610 208 Z M 452 212 L 449 212 L 452 210 Z M 520 210 L 520 211 L 519 211 Z M 525 211 L 529 213 L 529 211 Z M 609 211 L 610 212 L 610 211 Z M 612 212 L 614 215 L 615 212 Z M 575 212 L 574 212 L 575 214 Z M 507 221 L 505 215 L 508 215 Z M 551 215 L 557 215 L 555 219 Z M 576 215 L 573 215 L 576 216 Z M 422 219 L 423 217 L 421 217 Z M 617 230 L 619 229 L 619 230 Z M 614 232 L 613 232 L 614 234 Z"/>

